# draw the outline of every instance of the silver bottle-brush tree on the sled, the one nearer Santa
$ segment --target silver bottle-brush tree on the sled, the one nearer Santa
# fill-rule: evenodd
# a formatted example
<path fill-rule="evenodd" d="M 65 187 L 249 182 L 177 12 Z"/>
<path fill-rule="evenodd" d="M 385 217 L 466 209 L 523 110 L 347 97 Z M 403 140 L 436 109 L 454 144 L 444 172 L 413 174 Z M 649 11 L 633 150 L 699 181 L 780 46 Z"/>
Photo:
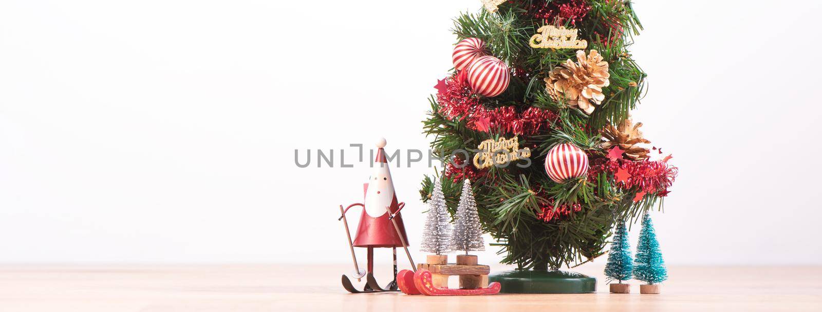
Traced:
<path fill-rule="evenodd" d="M 420 242 L 420 251 L 432 252 L 436 255 L 448 252 L 451 244 L 450 224 L 451 217 L 446 207 L 446 197 L 442 194 L 442 184 L 437 179 L 434 183 L 434 192 L 428 200 L 428 212 L 423 228 L 423 242 Z"/>

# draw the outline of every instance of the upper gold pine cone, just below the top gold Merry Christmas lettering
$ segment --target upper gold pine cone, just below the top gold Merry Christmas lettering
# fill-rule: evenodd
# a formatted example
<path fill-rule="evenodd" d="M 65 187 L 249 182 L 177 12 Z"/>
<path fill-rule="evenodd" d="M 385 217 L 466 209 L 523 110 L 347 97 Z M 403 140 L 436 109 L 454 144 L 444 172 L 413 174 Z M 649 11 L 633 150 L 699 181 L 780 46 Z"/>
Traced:
<path fill-rule="evenodd" d="M 605 99 L 603 88 L 610 84 L 608 62 L 597 50 L 585 52 L 577 50 L 576 62 L 567 60 L 561 66 L 554 67 L 545 79 L 547 92 L 555 100 L 562 94 L 568 99 L 569 106 L 578 106 L 587 114 L 593 113 L 594 105 Z"/>

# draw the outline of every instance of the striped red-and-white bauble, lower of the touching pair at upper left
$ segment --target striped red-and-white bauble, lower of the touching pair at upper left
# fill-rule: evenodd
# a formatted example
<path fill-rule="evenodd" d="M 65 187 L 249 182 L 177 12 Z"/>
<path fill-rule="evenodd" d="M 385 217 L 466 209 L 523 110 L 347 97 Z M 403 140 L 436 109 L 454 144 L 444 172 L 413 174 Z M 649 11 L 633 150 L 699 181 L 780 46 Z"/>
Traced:
<path fill-rule="evenodd" d="M 510 73 L 506 63 L 496 57 L 479 57 L 468 66 L 468 85 L 474 92 L 496 97 L 506 91 Z"/>

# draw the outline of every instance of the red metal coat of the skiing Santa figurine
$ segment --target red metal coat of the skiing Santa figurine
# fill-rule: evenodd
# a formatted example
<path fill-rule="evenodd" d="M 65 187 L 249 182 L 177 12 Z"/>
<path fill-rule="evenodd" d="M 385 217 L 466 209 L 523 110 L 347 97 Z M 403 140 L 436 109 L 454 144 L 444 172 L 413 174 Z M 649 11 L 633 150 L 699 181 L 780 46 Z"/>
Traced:
<path fill-rule="evenodd" d="M 365 183 L 364 188 L 368 188 L 368 183 Z M 397 194 L 394 194 L 390 207 L 392 214 L 399 209 Z M 402 216 L 397 215 L 394 217 L 394 220 L 397 221 L 399 233 L 402 233 L 403 235 L 402 237 L 406 243 L 405 246 L 408 246 L 409 237 L 405 235 L 405 225 L 403 224 Z M 391 223 L 391 220 L 388 219 L 387 213 L 374 218 L 371 215 L 368 215 L 363 207 L 363 215 L 360 216 L 360 224 L 357 228 L 357 236 L 354 238 L 354 246 L 401 247 L 403 246 L 403 241 L 399 239 L 397 230 L 394 228 L 394 224 Z"/>

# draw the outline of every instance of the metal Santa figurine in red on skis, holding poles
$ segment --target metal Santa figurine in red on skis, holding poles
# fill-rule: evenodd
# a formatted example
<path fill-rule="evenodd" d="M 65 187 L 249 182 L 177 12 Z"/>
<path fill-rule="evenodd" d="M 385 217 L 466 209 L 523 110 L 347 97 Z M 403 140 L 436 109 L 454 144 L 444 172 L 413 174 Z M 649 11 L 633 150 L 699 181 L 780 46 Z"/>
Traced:
<path fill-rule="evenodd" d="M 368 183 L 363 185 L 365 191 L 365 203 L 355 203 L 342 211 L 340 219 L 344 220 L 345 231 L 349 235 L 349 246 L 351 247 L 351 255 L 354 261 L 354 267 L 357 270 L 355 278 L 362 278 L 368 274 L 368 283 L 363 291 L 356 291 L 353 289 L 348 278 L 343 276 L 344 287 L 349 292 L 376 292 L 376 291 L 395 291 L 397 289 L 397 247 L 404 247 L 406 254 L 408 254 L 408 237 L 405 235 L 405 227 L 403 219 L 399 215 L 399 210 L 405 206 L 404 202 L 397 201 L 397 195 L 394 192 L 394 181 L 391 179 L 388 161 L 386 161 L 386 139 L 381 138 L 376 142 L 376 162 L 372 176 L 368 179 Z M 362 206 L 363 213 L 360 215 L 360 222 L 357 228 L 357 233 L 351 242 L 351 234 L 349 233 L 348 221 L 345 219 L 345 213 L 354 206 Z M 342 206 L 339 206 L 342 210 Z M 367 248 L 367 272 L 361 271 L 357 264 L 356 255 L 354 255 L 353 247 Z M 391 248 L 394 251 L 394 280 L 384 288 L 376 285 L 373 279 L 374 271 L 374 248 Z M 412 262 L 409 255 L 409 261 Z"/>

